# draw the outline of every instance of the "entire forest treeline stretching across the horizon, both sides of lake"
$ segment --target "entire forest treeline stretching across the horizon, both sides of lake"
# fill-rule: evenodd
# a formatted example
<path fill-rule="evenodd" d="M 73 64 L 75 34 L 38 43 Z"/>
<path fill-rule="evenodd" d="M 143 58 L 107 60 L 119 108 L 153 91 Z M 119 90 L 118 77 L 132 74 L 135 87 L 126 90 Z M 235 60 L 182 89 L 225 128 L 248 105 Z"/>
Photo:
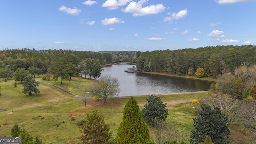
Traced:
<path fill-rule="evenodd" d="M 245 62 L 256 64 L 256 46 L 207 46 L 196 49 L 154 50 L 154 51 L 73 51 L 73 50 L 35 50 L 29 48 L 4 49 L 0 51 L 0 68 L 7 65 L 26 69 L 42 62 L 45 70 L 59 57 L 66 57 L 68 62 L 77 65 L 86 58 L 100 60 L 101 64 L 116 62 L 136 62 L 139 70 L 146 72 L 164 72 L 168 74 L 187 75 L 192 68 L 193 74 L 198 68 L 204 68 L 206 76 L 216 77 L 225 72 L 234 72 L 237 66 Z M 24 61 L 20 62 L 20 60 Z M 11 64 L 15 63 L 15 64 Z"/>

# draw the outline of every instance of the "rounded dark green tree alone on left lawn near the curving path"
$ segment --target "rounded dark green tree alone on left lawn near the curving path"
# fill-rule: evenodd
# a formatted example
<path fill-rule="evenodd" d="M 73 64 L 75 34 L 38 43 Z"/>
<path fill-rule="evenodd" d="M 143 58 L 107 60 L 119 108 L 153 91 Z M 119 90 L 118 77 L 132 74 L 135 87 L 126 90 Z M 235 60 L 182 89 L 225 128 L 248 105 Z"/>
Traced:
<path fill-rule="evenodd" d="M 22 86 L 24 94 L 28 93 L 28 95 L 32 95 L 32 92 L 34 93 L 40 93 L 40 90 L 37 88 L 39 86 L 39 82 L 36 81 L 36 79 L 32 75 L 26 76 L 24 79 L 24 83 Z"/>

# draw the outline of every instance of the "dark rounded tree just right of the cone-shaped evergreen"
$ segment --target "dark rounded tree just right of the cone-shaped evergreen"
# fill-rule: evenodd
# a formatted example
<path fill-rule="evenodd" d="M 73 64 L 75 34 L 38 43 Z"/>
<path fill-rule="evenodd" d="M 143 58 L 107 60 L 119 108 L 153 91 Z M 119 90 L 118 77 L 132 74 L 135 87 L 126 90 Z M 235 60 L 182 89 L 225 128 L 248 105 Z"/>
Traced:
<path fill-rule="evenodd" d="M 155 126 L 156 123 L 165 121 L 168 115 L 166 104 L 163 104 L 159 96 L 148 96 L 148 103 L 142 108 L 142 117 L 148 125 Z"/>

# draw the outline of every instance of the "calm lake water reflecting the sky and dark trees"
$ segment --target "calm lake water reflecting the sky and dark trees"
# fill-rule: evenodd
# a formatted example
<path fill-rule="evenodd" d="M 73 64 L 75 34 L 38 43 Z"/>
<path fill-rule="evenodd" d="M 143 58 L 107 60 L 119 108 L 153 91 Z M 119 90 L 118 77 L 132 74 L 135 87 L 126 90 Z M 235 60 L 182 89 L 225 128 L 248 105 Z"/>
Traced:
<path fill-rule="evenodd" d="M 177 78 L 140 72 L 124 72 L 125 69 L 135 65 L 116 64 L 104 66 L 102 75 L 118 78 L 120 82 L 119 96 L 136 96 L 151 94 L 170 94 L 178 92 L 205 91 L 212 82 Z"/>

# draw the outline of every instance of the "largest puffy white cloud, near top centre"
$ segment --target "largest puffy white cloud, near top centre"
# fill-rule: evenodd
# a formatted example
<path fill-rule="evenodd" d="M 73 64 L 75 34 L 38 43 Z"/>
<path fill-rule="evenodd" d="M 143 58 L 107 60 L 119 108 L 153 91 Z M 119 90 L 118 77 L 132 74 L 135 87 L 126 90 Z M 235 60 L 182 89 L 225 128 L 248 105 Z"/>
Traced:
<path fill-rule="evenodd" d="M 146 2 L 148 2 L 148 0 L 130 2 L 130 4 L 125 9 L 122 9 L 122 11 L 133 13 L 132 16 L 145 16 L 148 14 L 161 13 L 166 8 L 163 4 L 150 5 L 142 8 L 142 4 Z"/>

